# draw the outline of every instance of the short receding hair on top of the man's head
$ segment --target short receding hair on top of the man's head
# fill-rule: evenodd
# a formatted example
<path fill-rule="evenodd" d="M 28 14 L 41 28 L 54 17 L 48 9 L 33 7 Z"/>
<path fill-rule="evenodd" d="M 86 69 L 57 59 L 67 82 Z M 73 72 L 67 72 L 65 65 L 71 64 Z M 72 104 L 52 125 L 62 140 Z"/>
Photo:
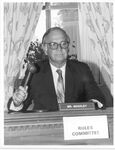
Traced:
<path fill-rule="evenodd" d="M 52 32 L 52 31 L 56 31 L 56 30 L 62 31 L 63 34 L 65 35 L 65 37 L 67 38 L 67 41 L 70 42 L 70 38 L 69 38 L 69 36 L 68 36 L 68 34 L 66 33 L 65 30 L 63 30 L 63 29 L 60 28 L 60 27 L 53 27 L 53 28 L 49 28 L 49 29 L 45 32 L 45 34 L 43 35 L 42 44 L 45 44 L 45 38 L 48 36 L 48 34 L 49 34 L 50 32 Z"/>

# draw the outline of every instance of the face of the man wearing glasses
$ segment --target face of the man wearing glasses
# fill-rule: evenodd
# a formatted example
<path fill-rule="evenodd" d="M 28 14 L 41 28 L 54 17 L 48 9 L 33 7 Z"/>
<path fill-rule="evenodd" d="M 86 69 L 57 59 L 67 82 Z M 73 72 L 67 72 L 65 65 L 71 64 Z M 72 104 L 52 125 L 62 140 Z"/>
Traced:
<path fill-rule="evenodd" d="M 55 66 L 65 64 L 69 43 L 64 33 L 60 30 L 50 32 L 46 37 L 45 43 L 47 43 L 46 53 L 49 56 L 50 62 Z"/>

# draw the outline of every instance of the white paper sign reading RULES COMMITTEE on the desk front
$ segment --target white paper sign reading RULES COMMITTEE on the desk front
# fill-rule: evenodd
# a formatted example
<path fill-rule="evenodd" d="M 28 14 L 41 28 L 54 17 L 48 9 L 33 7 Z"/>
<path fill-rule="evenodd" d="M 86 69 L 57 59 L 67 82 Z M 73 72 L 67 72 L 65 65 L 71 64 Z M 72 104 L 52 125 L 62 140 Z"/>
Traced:
<path fill-rule="evenodd" d="M 109 138 L 105 115 L 63 117 L 63 125 L 64 140 Z"/>

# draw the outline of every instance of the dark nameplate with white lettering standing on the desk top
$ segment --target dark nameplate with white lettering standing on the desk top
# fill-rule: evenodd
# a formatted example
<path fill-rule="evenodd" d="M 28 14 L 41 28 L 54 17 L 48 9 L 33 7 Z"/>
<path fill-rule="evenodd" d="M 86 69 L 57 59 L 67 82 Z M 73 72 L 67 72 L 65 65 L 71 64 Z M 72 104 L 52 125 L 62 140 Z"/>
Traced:
<path fill-rule="evenodd" d="M 95 110 L 95 104 L 93 102 L 83 102 L 83 103 L 60 103 L 60 111 L 68 110 Z"/>

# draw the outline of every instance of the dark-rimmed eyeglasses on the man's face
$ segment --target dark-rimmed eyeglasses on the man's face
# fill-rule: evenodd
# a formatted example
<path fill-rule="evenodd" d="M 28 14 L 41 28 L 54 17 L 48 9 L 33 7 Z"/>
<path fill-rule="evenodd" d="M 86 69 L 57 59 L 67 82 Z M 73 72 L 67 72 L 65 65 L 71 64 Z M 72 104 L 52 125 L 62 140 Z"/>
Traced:
<path fill-rule="evenodd" d="M 61 43 L 56 43 L 56 42 L 51 42 L 51 43 L 47 43 L 48 47 L 52 50 L 57 50 L 58 46 L 60 45 L 60 47 L 62 49 L 66 49 L 69 47 L 69 42 L 67 41 L 62 41 Z"/>

